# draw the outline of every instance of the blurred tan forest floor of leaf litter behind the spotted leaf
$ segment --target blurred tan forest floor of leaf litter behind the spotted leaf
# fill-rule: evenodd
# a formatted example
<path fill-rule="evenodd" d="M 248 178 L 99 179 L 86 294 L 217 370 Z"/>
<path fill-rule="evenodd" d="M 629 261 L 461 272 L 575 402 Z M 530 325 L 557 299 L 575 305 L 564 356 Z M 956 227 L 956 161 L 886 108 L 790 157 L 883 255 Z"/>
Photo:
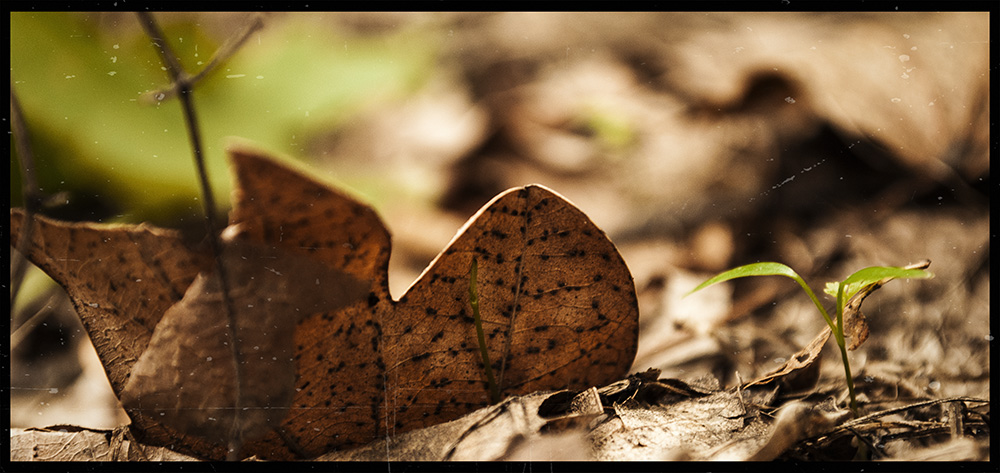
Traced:
<path fill-rule="evenodd" d="M 692 416 L 745 395 L 755 414 L 729 417 L 744 422 L 729 440 L 760 428 L 749 453 L 720 441 L 685 446 L 664 436 L 676 417 L 628 411 L 678 416 L 678 403 L 696 396 L 635 404 L 605 391 L 610 414 L 529 453 L 510 439 L 478 459 L 989 460 L 987 20 L 789 15 L 438 18 L 455 38 L 439 80 L 313 141 L 313 165 L 340 174 L 434 176 L 433 198 L 379 209 L 393 235 L 396 295 L 497 193 L 529 183 L 559 192 L 607 232 L 634 277 L 630 372 L 659 375 L 633 382 L 728 396 L 686 407 Z M 378 34 L 422 20 L 337 21 Z M 832 341 L 804 374 L 736 389 L 826 327 L 792 281 L 738 280 L 684 297 L 758 261 L 785 263 L 821 289 L 867 266 L 924 259 L 933 279 L 893 281 L 865 303 L 870 335 L 850 352 L 863 420 L 854 424 Z M 45 304 L 51 315 L 12 351 L 11 426 L 126 423 L 65 296 Z M 803 423 L 815 425 L 775 433 Z"/>

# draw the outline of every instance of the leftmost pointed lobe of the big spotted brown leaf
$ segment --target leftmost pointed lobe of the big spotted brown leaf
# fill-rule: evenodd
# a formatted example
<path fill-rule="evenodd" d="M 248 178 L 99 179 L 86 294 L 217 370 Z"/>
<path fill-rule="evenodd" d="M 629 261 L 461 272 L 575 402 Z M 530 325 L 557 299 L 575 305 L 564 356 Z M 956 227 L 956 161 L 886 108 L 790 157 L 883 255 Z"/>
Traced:
<path fill-rule="evenodd" d="M 12 209 L 11 241 L 23 213 Z M 211 261 L 187 249 L 180 234 L 148 225 L 66 223 L 35 217 L 28 258 L 69 291 L 116 392 L 146 349 L 168 307 Z"/>

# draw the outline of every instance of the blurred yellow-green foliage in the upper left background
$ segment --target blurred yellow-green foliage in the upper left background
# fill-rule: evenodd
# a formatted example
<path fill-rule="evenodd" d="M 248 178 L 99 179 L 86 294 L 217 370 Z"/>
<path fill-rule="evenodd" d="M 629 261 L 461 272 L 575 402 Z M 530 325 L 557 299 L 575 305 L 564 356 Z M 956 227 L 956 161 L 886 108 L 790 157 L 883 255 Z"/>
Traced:
<path fill-rule="evenodd" d="M 191 74 L 225 40 L 213 39 L 200 24 L 200 15 L 211 14 L 157 15 Z M 358 36 L 331 23 L 307 13 L 265 19 L 262 30 L 196 86 L 219 210 L 229 200 L 226 137 L 308 158 L 311 136 L 329 133 L 373 101 L 405 96 L 429 77 L 436 45 L 426 31 Z M 10 39 L 11 80 L 46 195 L 60 193 L 69 208 L 84 212 L 72 216 L 77 219 L 169 226 L 202 214 L 179 102 L 143 98 L 168 79 L 135 16 L 15 12 Z M 11 144 L 11 202 L 18 205 Z M 360 190 L 377 198 L 377 191 Z M 80 202 L 90 205 L 73 206 Z"/>

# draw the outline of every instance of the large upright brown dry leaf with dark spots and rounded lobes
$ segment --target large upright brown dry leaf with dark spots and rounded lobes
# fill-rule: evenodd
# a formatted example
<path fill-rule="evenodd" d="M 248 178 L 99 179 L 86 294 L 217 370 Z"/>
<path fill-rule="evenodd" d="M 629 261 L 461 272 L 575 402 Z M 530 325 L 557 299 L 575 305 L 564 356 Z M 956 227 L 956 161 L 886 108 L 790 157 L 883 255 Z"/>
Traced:
<path fill-rule="evenodd" d="M 292 315 L 300 320 L 292 334 L 291 402 L 283 397 L 286 385 L 280 380 L 262 388 L 263 399 L 255 401 L 274 400 L 279 413 L 281 407 L 290 408 L 287 415 L 272 418 L 265 413 L 248 421 L 252 433 L 264 434 L 245 445 L 244 454 L 314 457 L 455 419 L 487 405 L 485 370 L 467 296 L 474 257 L 479 261 L 486 343 L 503 395 L 599 386 L 621 378 L 629 368 L 636 350 L 638 313 L 628 268 L 586 215 L 548 189 L 527 186 L 497 196 L 395 301 L 386 275 L 389 234 L 370 207 L 260 154 L 236 150 L 232 159 L 237 190 L 230 225 L 241 240 L 274 248 L 266 251 L 281 255 L 302 256 L 310 261 L 306 266 L 322 265 L 333 274 L 371 281 L 360 302 L 304 317 Z M 12 237 L 18 235 L 22 219 L 19 210 L 12 210 Z M 151 343 L 157 338 L 154 330 L 166 331 L 169 324 L 188 327 L 188 332 L 204 328 L 209 330 L 206 337 L 217 343 L 218 334 L 211 335 L 211 330 L 218 328 L 196 327 L 171 315 L 211 312 L 212 302 L 195 303 L 200 286 L 192 286 L 196 278 L 200 278 L 196 284 L 208 284 L 211 258 L 185 247 L 176 233 L 148 226 L 69 224 L 45 218 L 38 218 L 36 225 L 28 256 L 69 292 L 112 387 L 119 396 L 126 394 L 123 391 L 129 394 L 126 408 L 137 439 L 207 458 L 224 457 L 220 433 L 206 431 L 204 420 L 180 420 L 176 414 L 171 421 L 160 419 L 169 417 L 165 409 L 172 404 L 169 395 L 156 394 L 152 401 L 160 406 L 154 412 L 164 415 L 146 411 L 150 398 L 145 396 L 163 391 L 173 381 L 161 380 L 146 388 L 136 382 L 135 392 L 128 381 L 130 375 L 151 379 L 153 367 L 164 368 L 163 362 L 154 361 L 163 355 L 144 354 L 147 346 L 163 353 L 184 351 L 180 341 L 171 342 L 166 336 Z M 223 257 L 227 264 L 232 264 L 230 259 Z M 264 270 L 251 264 L 245 276 L 267 279 L 267 267 L 261 267 Z M 254 284 L 281 292 L 281 281 Z M 192 290 L 195 294 L 189 299 L 185 293 Z M 232 297 L 245 302 L 241 297 L 264 294 Z M 294 313 L 295 306 L 312 307 L 294 295 L 274 296 L 266 301 L 268 307 L 285 313 Z M 342 299 L 334 296 L 332 301 L 337 305 Z M 209 307 L 198 308 L 199 304 Z M 288 327 L 287 320 L 275 321 L 264 314 L 266 310 L 255 312 L 240 320 L 250 324 L 262 317 L 265 320 L 252 323 Z M 168 325 L 160 329 L 159 324 Z M 282 332 L 280 327 L 276 332 Z M 186 355 L 215 360 L 215 355 L 206 355 L 214 352 L 200 342 L 183 343 L 208 350 Z M 278 351 L 260 355 L 279 357 L 284 343 L 270 343 L 266 350 Z M 150 368 L 137 363 L 142 357 L 151 360 Z M 167 366 L 174 379 L 184 374 L 180 365 Z M 205 367 L 193 378 L 209 373 Z M 181 387 L 225 391 L 222 386 L 195 382 L 178 390 Z M 174 407 L 212 397 L 201 393 L 191 400 L 179 392 Z M 227 399 L 219 399 L 216 407 L 225 407 Z M 201 414 L 207 415 L 204 410 Z M 270 428 L 278 417 L 283 417 L 280 425 Z"/>

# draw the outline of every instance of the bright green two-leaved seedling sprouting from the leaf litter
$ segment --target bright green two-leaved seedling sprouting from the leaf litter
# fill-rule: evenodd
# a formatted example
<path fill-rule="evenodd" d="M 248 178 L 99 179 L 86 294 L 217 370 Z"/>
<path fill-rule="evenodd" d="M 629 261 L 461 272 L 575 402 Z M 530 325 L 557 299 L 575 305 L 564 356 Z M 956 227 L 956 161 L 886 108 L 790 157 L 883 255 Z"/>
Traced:
<path fill-rule="evenodd" d="M 816 308 L 819 310 L 820 315 L 823 316 L 826 324 L 830 326 L 830 330 L 834 335 L 834 340 L 837 342 L 837 347 L 840 348 L 840 356 L 844 362 L 844 376 L 847 379 L 847 391 L 851 398 L 851 413 L 857 417 L 858 405 L 854 397 L 854 378 L 851 376 L 851 365 L 847 359 L 847 345 L 844 342 L 844 307 L 848 305 L 847 301 L 852 300 L 855 296 L 863 299 L 872 291 L 892 279 L 926 279 L 934 277 L 934 275 L 930 272 L 924 271 L 924 268 L 929 265 L 930 261 L 925 260 L 921 263 L 906 267 L 871 266 L 848 276 L 843 281 L 827 283 L 824 292 L 837 299 L 835 314 L 836 320 L 831 318 L 829 312 L 823 308 L 823 304 L 820 303 L 818 298 L 816 298 L 816 294 L 809 287 L 809 285 L 806 284 L 805 280 L 803 280 L 798 273 L 793 271 L 792 268 L 789 268 L 781 263 L 752 263 L 733 268 L 701 283 L 698 287 L 692 289 L 688 294 L 694 293 L 716 283 L 747 276 L 785 276 L 799 283 L 799 286 L 802 286 L 802 289 L 806 292 L 809 298 L 812 299 L 813 304 L 816 305 Z M 858 299 L 858 304 L 860 304 L 860 299 Z M 856 309 L 857 304 L 852 305 L 854 305 Z"/>

